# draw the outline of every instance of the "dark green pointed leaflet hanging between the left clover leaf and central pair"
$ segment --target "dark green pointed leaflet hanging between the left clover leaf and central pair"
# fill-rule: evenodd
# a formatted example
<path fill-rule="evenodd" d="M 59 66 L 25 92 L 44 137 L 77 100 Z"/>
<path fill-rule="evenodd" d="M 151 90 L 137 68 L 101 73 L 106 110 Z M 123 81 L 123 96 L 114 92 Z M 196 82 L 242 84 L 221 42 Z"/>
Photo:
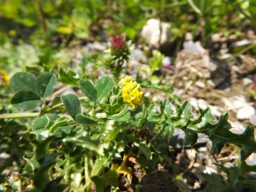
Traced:
<path fill-rule="evenodd" d="M 61 96 L 61 100 L 63 100 L 63 104 L 68 111 L 68 114 L 75 120 L 78 114 L 81 114 L 81 105 L 78 96 L 73 94 L 63 95 Z"/>

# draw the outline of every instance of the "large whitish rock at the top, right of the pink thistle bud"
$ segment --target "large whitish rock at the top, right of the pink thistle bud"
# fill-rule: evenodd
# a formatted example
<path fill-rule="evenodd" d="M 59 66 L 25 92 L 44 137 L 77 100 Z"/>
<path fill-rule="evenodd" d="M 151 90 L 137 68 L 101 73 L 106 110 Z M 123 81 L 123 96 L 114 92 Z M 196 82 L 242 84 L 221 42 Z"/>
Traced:
<path fill-rule="evenodd" d="M 169 23 L 161 22 L 161 31 L 160 31 L 160 21 L 155 18 L 150 18 L 146 21 L 146 26 L 142 28 L 142 37 L 145 38 L 147 43 L 150 46 L 159 48 L 169 44 L 171 39 L 171 25 Z M 160 37 L 161 35 L 161 37 Z M 159 45 L 160 40 L 160 45 Z"/>

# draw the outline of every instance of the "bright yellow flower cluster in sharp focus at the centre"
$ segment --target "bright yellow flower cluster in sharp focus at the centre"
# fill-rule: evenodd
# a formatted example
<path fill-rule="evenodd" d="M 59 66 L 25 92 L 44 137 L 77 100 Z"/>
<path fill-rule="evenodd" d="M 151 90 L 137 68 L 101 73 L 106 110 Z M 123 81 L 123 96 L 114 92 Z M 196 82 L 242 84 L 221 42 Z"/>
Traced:
<path fill-rule="evenodd" d="M 122 87 L 122 97 L 124 98 L 124 102 L 131 105 L 132 110 L 134 110 L 137 105 L 142 104 L 143 92 L 139 83 L 133 81 L 131 77 L 126 76 L 120 80 L 119 86 Z"/>

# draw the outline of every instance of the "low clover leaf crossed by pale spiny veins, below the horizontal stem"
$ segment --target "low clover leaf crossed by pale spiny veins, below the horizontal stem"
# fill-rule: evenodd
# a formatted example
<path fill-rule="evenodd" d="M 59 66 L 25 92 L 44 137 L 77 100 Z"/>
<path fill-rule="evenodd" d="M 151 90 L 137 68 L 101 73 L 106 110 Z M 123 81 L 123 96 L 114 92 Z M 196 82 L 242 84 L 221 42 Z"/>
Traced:
<path fill-rule="evenodd" d="M 58 114 L 44 114 L 33 123 L 32 132 L 38 135 L 39 140 L 55 135 L 54 140 L 57 141 L 67 137 L 71 132 L 71 127 Z"/>

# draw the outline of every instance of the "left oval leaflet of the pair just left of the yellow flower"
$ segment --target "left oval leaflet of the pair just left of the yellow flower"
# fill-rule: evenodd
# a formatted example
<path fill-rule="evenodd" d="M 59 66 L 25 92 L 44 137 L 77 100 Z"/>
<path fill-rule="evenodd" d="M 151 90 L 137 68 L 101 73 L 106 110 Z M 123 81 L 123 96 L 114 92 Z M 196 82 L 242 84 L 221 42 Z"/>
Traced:
<path fill-rule="evenodd" d="M 97 100 L 97 90 L 90 80 L 80 80 L 78 85 L 81 92 L 90 100 Z"/>

